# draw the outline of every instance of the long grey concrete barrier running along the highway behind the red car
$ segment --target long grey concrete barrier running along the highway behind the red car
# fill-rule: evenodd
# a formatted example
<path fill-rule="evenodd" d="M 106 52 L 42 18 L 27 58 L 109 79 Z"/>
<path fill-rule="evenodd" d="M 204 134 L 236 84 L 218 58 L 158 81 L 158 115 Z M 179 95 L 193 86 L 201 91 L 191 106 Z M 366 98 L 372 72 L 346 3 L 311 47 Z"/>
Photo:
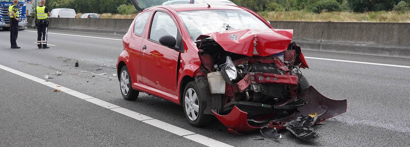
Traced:
<path fill-rule="evenodd" d="M 123 36 L 132 19 L 50 18 L 50 30 Z M 31 25 L 29 20 L 29 25 Z M 271 21 L 303 50 L 410 58 L 410 23 Z"/>

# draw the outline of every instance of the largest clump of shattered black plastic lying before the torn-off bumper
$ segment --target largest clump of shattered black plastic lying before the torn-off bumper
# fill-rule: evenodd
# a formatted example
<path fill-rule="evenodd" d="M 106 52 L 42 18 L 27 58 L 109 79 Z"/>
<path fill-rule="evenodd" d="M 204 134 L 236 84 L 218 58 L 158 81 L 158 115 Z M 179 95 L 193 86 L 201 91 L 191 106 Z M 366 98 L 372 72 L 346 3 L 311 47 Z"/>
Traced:
<path fill-rule="evenodd" d="M 309 114 L 303 118 L 299 117 L 296 120 L 290 121 L 286 129 L 302 140 L 313 141 L 322 137 L 313 130 L 312 125 L 315 122 L 320 122 L 320 119 L 317 119 L 317 114 Z"/>

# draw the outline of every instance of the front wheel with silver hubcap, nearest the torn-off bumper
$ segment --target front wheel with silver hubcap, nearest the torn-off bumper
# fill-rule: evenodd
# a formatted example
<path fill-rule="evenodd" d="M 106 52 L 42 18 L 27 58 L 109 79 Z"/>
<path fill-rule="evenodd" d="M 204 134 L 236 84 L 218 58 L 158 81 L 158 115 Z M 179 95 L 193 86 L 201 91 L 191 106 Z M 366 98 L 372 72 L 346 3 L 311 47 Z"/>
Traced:
<path fill-rule="evenodd" d="M 205 100 L 203 100 L 203 91 L 198 89 L 195 81 L 187 84 L 184 90 L 183 102 L 185 118 L 194 127 L 201 127 L 207 125 L 212 115 L 204 114 L 206 107 Z"/>

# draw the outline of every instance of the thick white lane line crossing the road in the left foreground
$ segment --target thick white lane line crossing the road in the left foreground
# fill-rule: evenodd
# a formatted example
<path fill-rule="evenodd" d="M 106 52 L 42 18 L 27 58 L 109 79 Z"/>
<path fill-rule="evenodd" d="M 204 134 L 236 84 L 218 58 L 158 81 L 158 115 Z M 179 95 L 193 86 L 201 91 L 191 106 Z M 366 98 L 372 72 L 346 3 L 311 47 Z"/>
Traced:
<path fill-rule="evenodd" d="M 37 77 L 35 77 L 35 76 L 31 76 L 31 75 L 26 74 L 26 73 L 23 73 L 23 72 L 21 72 L 21 71 L 17 71 L 17 70 L 15 70 L 15 69 L 11 69 L 11 68 L 5 67 L 5 66 L 3 66 L 3 65 L 0 65 L 0 69 L 3 69 L 3 70 L 5 70 L 5 71 L 9 71 L 9 72 L 11 72 L 11 73 L 17 74 L 17 75 L 19 75 L 19 76 L 22 76 L 22 77 L 24 77 L 24 78 L 33 80 L 33 81 L 35 81 L 35 82 L 39 82 L 39 83 L 41 83 L 41 84 L 43 84 L 43 85 L 46 85 L 46 86 L 48 86 L 48 87 L 51 87 L 51 88 L 54 88 L 54 89 L 59 89 L 59 90 L 61 90 L 62 92 L 66 93 L 66 94 L 70 94 L 70 95 L 75 96 L 75 97 L 77 97 L 77 98 L 81 98 L 81 99 L 86 100 L 86 101 L 88 101 L 88 102 L 91 102 L 91 103 L 93 103 L 93 104 L 96 104 L 96 105 L 99 105 L 99 106 L 101 106 L 101 107 L 110 109 L 110 110 L 112 110 L 112 111 L 115 111 L 115 112 L 117 112 L 117 113 L 123 114 L 123 115 L 125 115 L 125 116 L 130 117 L 130 118 L 134 118 L 134 119 L 136 119 L 136 120 L 145 122 L 145 123 L 147 123 L 147 124 L 149 124 L 149 125 L 152 125 L 152 126 L 154 126 L 154 127 L 158 127 L 159 129 L 163 129 L 163 130 L 165 130 L 165 131 L 169 131 L 169 132 L 171 132 L 171 133 L 173 133 L 173 134 L 176 134 L 176 135 L 178 135 L 178 136 L 182 136 L 182 137 L 184 137 L 184 138 L 187 138 L 187 139 L 189 139 L 189 140 L 195 141 L 195 142 L 197 142 L 197 143 L 200 143 L 200 144 L 203 144 L 203 145 L 206 145 L 206 146 L 209 146 L 209 147 L 233 147 L 233 146 L 231 146 L 231 145 L 222 143 L 222 142 L 220 142 L 220 141 L 218 141 L 218 140 L 214 140 L 214 139 L 212 139 L 212 138 L 208 138 L 208 137 L 206 137 L 206 136 L 202 136 L 202 135 L 200 135 L 200 134 L 196 134 L 196 133 L 194 133 L 194 132 L 192 132 L 192 131 L 188 131 L 188 130 L 186 130 L 186 129 L 182 129 L 182 128 L 180 128 L 180 127 L 171 125 L 171 124 L 166 123 L 166 122 L 163 122 L 163 121 L 161 121 L 161 120 L 157 120 L 157 119 L 151 118 L 151 117 L 149 117 L 149 116 L 145 116 L 145 115 L 143 115 L 143 114 L 139 114 L 139 113 L 137 113 L 137 112 L 135 112 L 135 111 L 131 111 L 131 110 L 129 110 L 129 109 L 125 109 L 125 108 L 123 108 L 123 107 L 120 107 L 120 106 L 111 104 L 111 103 L 106 102 L 106 101 L 104 101 L 104 100 L 100 100 L 100 99 L 98 99 L 98 98 L 94 98 L 94 97 L 89 96 L 89 95 L 87 95 L 87 94 L 83 94 L 83 93 L 80 93 L 80 92 L 78 92 L 78 91 L 74 91 L 74 90 L 69 89 L 69 88 L 67 88 L 67 87 L 63 87 L 63 86 L 57 85 L 57 84 L 52 83 L 52 82 L 50 82 L 50 81 L 46 81 L 46 80 L 43 80 L 43 79 L 41 79 L 41 78 L 37 78 Z"/>

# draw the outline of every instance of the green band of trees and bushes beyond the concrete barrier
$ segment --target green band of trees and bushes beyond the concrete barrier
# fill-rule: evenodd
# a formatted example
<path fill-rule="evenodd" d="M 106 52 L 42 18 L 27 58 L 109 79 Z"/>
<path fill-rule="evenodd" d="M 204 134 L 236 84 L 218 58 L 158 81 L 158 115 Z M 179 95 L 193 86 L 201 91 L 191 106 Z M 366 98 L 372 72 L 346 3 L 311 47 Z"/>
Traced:
<path fill-rule="evenodd" d="M 160 3 L 164 0 L 145 2 Z M 206 0 L 205 0 L 206 1 Z M 231 0 L 254 11 L 408 11 L 410 0 Z M 144 2 L 140 2 L 144 5 Z M 146 4 L 150 5 L 150 4 Z M 130 0 L 47 0 L 50 9 L 71 8 L 77 13 L 136 13 Z M 142 6 L 144 7 L 144 6 Z"/>

